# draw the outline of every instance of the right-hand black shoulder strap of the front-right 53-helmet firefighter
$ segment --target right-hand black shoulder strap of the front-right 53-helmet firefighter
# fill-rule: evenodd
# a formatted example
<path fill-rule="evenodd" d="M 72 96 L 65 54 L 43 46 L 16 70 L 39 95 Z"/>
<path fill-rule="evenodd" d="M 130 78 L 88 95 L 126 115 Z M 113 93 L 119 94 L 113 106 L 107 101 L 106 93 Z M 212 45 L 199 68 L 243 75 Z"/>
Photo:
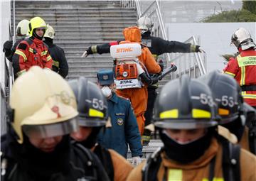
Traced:
<path fill-rule="evenodd" d="M 222 141 L 223 177 L 227 181 L 240 181 L 240 146 Z"/>

